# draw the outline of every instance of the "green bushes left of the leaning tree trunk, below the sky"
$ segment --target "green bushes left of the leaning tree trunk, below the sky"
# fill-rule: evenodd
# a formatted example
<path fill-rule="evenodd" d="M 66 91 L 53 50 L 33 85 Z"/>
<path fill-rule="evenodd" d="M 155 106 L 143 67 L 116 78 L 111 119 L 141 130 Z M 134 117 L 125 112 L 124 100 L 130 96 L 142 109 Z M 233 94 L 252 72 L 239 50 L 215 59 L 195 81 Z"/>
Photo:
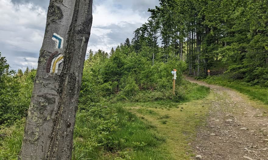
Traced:
<path fill-rule="evenodd" d="M 0 124 L 26 116 L 33 90 L 36 70 L 27 68 L 23 73 L 9 71 L 9 64 L 0 53 Z"/>

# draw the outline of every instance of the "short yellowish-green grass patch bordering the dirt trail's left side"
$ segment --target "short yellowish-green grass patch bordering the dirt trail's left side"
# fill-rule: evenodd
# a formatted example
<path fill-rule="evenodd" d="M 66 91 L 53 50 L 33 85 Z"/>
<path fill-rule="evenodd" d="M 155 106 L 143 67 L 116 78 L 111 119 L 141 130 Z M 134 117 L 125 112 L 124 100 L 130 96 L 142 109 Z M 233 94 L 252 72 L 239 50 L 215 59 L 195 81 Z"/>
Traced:
<path fill-rule="evenodd" d="M 189 143 L 196 138 L 198 127 L 206 124 L 208 106 L 203 100 L 185 103 L 139 102 L 118 103 L 137 114 L 143 121 L 156 126 L 170 154 L 164 159 L 189 160 L 194 154 Z"/>

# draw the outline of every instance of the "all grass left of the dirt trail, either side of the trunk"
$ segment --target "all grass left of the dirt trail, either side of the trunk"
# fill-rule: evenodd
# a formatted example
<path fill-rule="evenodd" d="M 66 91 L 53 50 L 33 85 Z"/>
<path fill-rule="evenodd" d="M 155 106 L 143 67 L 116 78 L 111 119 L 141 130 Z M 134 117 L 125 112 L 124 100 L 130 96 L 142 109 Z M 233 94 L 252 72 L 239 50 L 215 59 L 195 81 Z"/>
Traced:
<path fill-rule="evenodd" d="M 206 97 L 209 88 L 190 83 L 180 88 L 176 97 L 168 100 L 80 107 L 72 159 L 189 159 L 187 144 L 207 111 L 197 99 Z M 9 127 L 0 126 L 0 160 L 17 159 L 24 124 L 22 119 Z"/>

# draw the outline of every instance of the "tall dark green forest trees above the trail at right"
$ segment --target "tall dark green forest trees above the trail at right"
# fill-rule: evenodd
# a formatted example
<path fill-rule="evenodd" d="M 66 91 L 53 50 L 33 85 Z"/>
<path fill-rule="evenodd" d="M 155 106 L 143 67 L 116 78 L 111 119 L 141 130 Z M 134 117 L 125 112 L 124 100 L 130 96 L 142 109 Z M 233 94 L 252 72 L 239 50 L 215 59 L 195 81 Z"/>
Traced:
<path fill-rule="evenodd" d="M 132 44 L 164 62 L 186 60 L 191 75 L 206 76 L 222 61 L 230 77 L 268 86 L 267 9 L 267 0 L 160 0 Z"/>

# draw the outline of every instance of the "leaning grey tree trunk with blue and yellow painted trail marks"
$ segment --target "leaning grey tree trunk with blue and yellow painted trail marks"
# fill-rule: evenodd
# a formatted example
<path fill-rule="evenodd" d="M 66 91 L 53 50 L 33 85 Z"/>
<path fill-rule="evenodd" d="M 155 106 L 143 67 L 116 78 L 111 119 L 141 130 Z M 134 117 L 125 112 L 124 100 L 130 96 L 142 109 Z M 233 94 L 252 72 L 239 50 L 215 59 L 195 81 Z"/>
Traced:
<path fill-rule="evenodd" d="M 50 0 L 21 160 L 72 158 L 92 0 Z"/>

